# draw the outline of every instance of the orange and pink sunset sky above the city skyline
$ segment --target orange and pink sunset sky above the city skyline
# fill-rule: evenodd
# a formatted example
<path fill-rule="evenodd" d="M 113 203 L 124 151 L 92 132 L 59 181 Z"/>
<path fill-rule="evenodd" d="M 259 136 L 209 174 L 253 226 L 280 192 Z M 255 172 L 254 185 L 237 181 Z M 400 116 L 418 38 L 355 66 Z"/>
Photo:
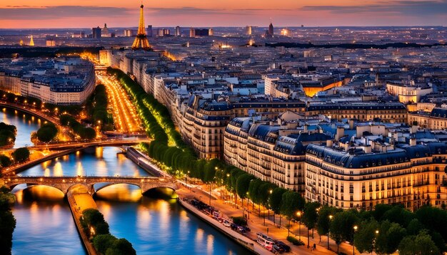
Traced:
<path fill-rule="evenodd" d="M 0 0 L 0 28 L 138 26 L 141 0 Z M 447 0 L 143 1 L 146 26 L 447 26 Z"/>

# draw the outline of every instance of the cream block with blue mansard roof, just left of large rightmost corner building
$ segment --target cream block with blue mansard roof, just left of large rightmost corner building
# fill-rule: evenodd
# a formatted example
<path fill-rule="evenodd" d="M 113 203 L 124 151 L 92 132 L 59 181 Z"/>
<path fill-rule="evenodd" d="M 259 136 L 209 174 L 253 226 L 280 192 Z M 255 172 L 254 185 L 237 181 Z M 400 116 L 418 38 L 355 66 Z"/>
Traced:
<path fill-rule="evenodd" d="M 283 113 L 277 123 L 234 118 L 224 133 L 224 160 L 278 187 L 304 193 L 306 145 L 321 145 L 331 136 L 286 121 L 296 115 Z"/>

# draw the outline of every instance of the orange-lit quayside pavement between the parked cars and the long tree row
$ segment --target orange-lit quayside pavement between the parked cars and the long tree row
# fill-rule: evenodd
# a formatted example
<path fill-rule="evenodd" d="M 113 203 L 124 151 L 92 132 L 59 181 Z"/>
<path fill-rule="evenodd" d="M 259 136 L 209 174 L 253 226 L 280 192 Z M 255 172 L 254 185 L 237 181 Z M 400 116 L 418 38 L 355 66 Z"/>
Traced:
<path fill-rule="evenodd" d="M 185 187 L 179 185 L 179 189 L 177 189 L 177 194 L 179 194 L 179 197 L 186 197 L 189 199 L 199 199 L 202 202 L 209 204 L 209 190 L 207 190 L 206 187 L 204 189 L 199 189 L 199 187 Z M 219 192 L 219 189 L 214 189 L 213 192 L 211 192 L 211 206 L 213 206 L 216 210 L 219 210 L 221 213 L 225 214 L 226 217 L 241 217 L 242 216 L 242 207 L 241 207 L 241 201 L 238 199 L 237 205 L 234 207 L 234 199 L 231 199 L 232 201 L 220 199 L 221 194 Z M 224 192 L 225 193 L 225 192 Z M 244 199 L 243 207 L 244 212 L 247 214 L 246 211 L 246 199 Z M 273 212 L 270 212 L 270 219 L 267 219 L 268 214 L 266 213 L 266 225 L 264 226 L 263 222 L 263 208 L 261 207 L 261 217 L 258 217 L 258 206 L 255 205 L 255 209 L 253 210 L 253 205 L 250 203 L 249 205 L 249 219 L 248 219 L 248 227 L 250 227 L 251 231 L 246 234 L 246 236 L 250 239 L 256 239 L 256 233 L 261 232 L 263 234 L 267 234 L 268 236 L 271 236 L 273 239 L 277 239 L 280 241 L 283 241 L 285 244 L 291 247 L 291 254 L 336 254 L 337 251 L 337 245 L 336 243 L 330 239 L 329 246 L 331 247 L 331 251 L 327 249 L 327 236 L 321 236 L 321 242 L 320 242 L 320 236 L 317 234 L 316 230 L 314 230 L 314 238 L 312 238 L 311 231 L 309 231 L 310 234 L 310 242 L 309 245 L 313 246 L 313 244 L 316 244 L 316 250 L 311 250 L 310 248 L 307 248 L 307 232 L 306 227 L 301 224 L 301 241 L 304 242 L 305 245 L 303 246 L 294 246 L 289 241 L 286 240 L 287 237 L 287 229 L 286 224 L 288 224 L 288 220 L 285 217 L 282 217 L 281 219 L 281 229 L 278 228 L 279 223 L 279 217 L 276 216 L 276 224 L 273 224 Z M 291 222 L 291 230 L 290 235 L 296 237 L 296 239 L 300 239 L 298 236 L 298 223 L 292 223 Z M 340 244 L 340 252 L 344 252 L 345 254 L 352 254 L 352 246 L 346 243 Z M 356 254 L 359 254 L 358 251 L 356 251 Z"/>

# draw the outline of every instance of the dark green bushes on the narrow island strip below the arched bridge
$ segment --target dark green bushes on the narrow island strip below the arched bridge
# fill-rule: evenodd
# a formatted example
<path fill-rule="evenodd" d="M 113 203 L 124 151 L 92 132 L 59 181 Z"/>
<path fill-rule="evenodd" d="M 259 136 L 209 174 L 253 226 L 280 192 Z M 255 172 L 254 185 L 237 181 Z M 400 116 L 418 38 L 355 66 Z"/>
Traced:
<path fill-rule="evenodd" d="M 110 234 L 109 224 L 97 209 L 86 209 L 80 220 L 84 233 L 89 236 L 99 254 L 136 254 L 126 239 L 117 239 Z"/>

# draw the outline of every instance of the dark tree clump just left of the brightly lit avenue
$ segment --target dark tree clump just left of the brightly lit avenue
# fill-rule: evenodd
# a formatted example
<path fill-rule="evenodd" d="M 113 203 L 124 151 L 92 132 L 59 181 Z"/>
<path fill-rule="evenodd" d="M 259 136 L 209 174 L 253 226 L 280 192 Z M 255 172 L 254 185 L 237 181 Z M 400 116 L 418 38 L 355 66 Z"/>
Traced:
<path fill-rule="evenodd" d="M 96 85 L 94 93 L 86 100 L 86 112 L 91 117 L 91 123 L 99 124 L 101 130 L 114 130 L 114 118 L 109 113 L 109 99 L 106 86 Z"/>

